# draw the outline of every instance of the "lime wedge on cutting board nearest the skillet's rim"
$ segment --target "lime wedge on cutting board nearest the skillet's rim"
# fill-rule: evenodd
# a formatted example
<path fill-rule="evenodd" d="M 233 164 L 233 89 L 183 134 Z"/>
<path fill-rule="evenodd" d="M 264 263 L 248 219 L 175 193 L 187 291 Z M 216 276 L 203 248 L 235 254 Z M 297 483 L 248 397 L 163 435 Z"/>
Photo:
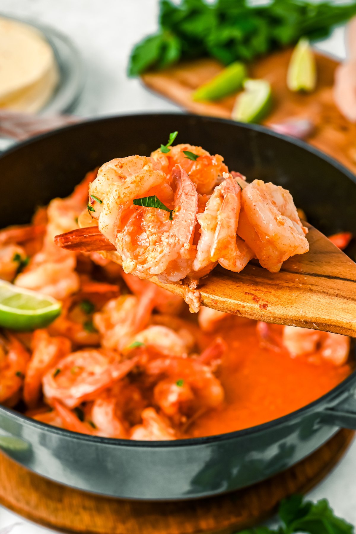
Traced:
<path fill-rule="evenodd" d="M 266 80 L 246 80 L 244 91 L 236 97 L 232 118 L 240 122 L 260 122 L 270 112 L 271 85 Z"/>

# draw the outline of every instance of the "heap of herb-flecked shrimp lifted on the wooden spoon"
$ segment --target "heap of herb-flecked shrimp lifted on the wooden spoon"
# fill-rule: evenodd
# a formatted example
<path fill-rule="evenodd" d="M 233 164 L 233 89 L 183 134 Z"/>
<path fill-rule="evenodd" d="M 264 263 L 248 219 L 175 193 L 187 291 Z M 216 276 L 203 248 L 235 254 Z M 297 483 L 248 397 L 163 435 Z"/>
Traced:
<path fill-rule="evenodd" d="M 198 311 L 196 286 L 217 263 L 240 272 L 257 257 L 277 272 L 288 257 L 308 250 L 307 229 L 290 193 L 262 180 L 248 184 L 223 161 L 185 144 L 162 145 L 151 158 L 111 160 L 90 184 L 89 214 L 83 217 L 92 218 L 81 222 L 90 226 L 90 243 L 89 234 L 81 245 L 80 235 L 70 233 L 57 242 L 68 250 L 88 246 L 88 252 L 97 243 L 101 256 L 141 279 L 183 280 L 184 298 Z"/>

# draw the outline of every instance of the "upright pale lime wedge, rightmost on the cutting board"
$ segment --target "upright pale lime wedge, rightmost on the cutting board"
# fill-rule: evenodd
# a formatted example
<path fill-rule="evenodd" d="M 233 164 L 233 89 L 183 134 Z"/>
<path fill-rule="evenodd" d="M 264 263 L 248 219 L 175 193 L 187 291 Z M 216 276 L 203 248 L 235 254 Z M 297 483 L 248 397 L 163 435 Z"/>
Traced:
<path fill-rule="evenodd" d="M 317 68 L 309 41 L 302 37 L 292 52 L 287 72 L 291 91 L 313 91 L 317 84 Z"/>

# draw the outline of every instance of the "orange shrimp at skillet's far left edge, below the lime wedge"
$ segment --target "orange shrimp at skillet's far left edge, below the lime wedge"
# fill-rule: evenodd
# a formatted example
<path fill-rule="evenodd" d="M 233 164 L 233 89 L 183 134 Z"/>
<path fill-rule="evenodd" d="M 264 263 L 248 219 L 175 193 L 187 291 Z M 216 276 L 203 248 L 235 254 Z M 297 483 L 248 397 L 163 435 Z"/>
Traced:
<path fill-rule="evenodd" d="M 0 339 L 0 403 L 16 404 L 30 355 L 12 334 Z"/>

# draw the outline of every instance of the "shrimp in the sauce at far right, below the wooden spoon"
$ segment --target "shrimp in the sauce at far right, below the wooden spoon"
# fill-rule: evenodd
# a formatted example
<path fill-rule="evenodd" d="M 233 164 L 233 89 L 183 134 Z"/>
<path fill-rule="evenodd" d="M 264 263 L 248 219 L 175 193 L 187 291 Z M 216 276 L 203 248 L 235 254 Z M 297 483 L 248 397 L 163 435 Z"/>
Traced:
<path fill-rule="evenodd" d="M 346 363 L 349 357 L 350 337 L 344 335 L 284 326 L 282 339 L 292 357 L 317 353 L 323 360 L 336 366 Z M 315 358 L 313 360 L 317 361 Z"/>

